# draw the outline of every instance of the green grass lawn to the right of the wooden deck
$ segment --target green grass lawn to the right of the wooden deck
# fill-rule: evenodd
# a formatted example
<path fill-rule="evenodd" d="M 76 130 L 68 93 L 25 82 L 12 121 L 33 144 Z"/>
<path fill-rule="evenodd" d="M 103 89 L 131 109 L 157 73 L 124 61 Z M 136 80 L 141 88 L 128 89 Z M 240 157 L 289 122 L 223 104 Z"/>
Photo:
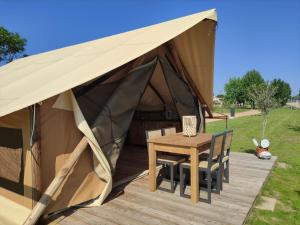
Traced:
<path fill-rule="evenodd" d="M 261 120 L 261 116 L 249 116 L 228 121 L 228 128 L 234 130 L 232 151 L 254 152 L 251 139 L 260 138 Z M 224 121 L 207 124 L 209 133 L 224 129 Z M 300 110 L 271 111 L 266 136 L 271 142 L 270 151 L 278 160 L 262 195 L 276 198 L 277 204 L 274 212 L 253 209 L 246 224 L 300 225 Z M 282 168 L 278 162 L 286 163 L 287 167 Z"/>

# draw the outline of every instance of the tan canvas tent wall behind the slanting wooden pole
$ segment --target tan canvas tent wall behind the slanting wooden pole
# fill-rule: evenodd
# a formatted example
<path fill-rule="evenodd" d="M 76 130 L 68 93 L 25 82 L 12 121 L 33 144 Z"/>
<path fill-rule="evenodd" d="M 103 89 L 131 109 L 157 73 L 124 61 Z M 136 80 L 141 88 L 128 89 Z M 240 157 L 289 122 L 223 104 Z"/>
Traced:
<path fill-rule="evenodd" d="M 72 111 L 53 107 L 57 96 L 43 102 L 41 116 L 42 190 L 49 186 L 56 173 L 82 138 Z M 94 172 L 92 153 L 87 149 L 55 194 L 47 212 L 54 212 L 98 197 L 105 182 Z"/>

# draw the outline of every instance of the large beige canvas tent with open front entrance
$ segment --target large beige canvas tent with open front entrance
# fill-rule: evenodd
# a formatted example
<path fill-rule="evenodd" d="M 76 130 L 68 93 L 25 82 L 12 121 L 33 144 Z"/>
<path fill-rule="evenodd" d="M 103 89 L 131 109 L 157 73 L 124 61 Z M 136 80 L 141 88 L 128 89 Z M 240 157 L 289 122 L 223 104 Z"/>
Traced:
<path fill-rule="evenodd" d="M 209 10 L 0 67 L 0 221 L 25 221 L 82 137 L 87 149 L 45 214 L 100 205 L 123 146 L 139 139 L 128 140 L 138 121 L 180 124 L 193 114 L 201 129 L 202 109 L 212 107 L 216 21 Z"/>

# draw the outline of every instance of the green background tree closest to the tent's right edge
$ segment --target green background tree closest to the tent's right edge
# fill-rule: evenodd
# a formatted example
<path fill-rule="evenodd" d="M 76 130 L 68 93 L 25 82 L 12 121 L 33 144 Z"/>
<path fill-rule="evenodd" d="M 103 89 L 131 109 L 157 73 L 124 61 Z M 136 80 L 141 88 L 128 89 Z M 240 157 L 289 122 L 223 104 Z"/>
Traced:
<path fill-rule="evenodd" d="M 241 78 L 230 78 L 225 84 L 224 100 L 227 104 L 244 103 L 245 91 L 242 85 Z"/>

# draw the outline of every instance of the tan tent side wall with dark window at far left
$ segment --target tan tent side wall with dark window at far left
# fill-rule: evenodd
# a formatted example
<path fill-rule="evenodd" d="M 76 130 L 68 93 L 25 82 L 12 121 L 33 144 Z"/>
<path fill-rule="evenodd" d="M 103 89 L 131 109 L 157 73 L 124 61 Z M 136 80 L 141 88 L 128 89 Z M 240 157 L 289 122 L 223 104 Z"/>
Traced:
<path fill-rule="evenodd" d="M 0 177 L 0 195 L 16 202 L 26 208 L 31 209 L 33 207 L 32 196 L 32 172 L 31 172 L 31 151 L 29 146 L 30 138 L 30 112 L 28 109 L 19 110 L 17 112 L 11 113 L 9 115 L 3 116 L 0 118 L 0 127 L 2 128 L 13 128 L 19 129 L 22 132 L 22 153 L 21 160 L 18 159 L 20 155 L 16 151 L 19 151 L 19 146 L 14 148 L 6 148 L 3 146 L 3 139 L 9 138 L 1 136 L 0 141 L 0 161 L 1 161 L 1 170 L 7 169 L 4 162 L 13 162 L 16 160 L 16 167 L 20 168 L 20 177 L 15 179 L 9 179 L 8 177 Z M 6 133 L 9 135 L 9 133 Z M 15 137 L 15 136 L 14 136 Z M 14 138 L 13 137 L 13 138 Z M 3 138 L 3 139 L 2 139 Z M 16 154 L 6 154 L 8 151 L 14 151 Z M 6 153 L 5 153 L 6 152 Z M 19 165 L 18 165 L 19 164 Z M 2 175 L 4 173 L 2 172 Z"/>

